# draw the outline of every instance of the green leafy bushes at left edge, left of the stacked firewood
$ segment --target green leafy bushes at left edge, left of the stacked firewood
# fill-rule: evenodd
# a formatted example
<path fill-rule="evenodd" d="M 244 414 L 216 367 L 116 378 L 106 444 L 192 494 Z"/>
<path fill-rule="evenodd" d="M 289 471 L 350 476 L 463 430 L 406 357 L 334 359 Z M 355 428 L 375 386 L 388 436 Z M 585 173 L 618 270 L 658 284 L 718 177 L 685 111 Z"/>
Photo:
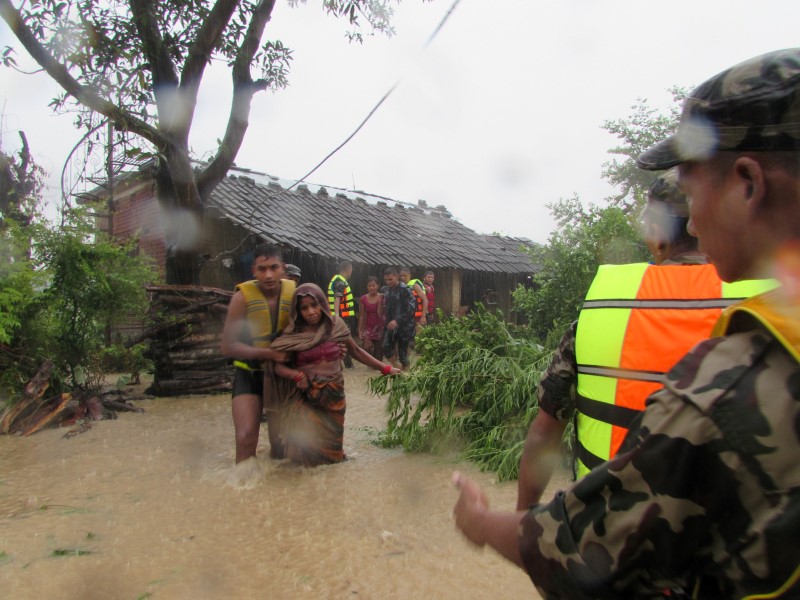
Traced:
<path fill-rule="evenodd" d="M 0 392 L 7 397 L 45 359 L 54 363 L 53 391 L 98 385 L 110 354 L 125 357 L 131 369 L 143 366 L 141 348 L 106 348 L 106 329 L 144 314 L 145 285 L 158 276 L 148 259 L 135 256 L 135 240 L 119 245 L 96 230 L 95 211 L 73 209 L 60 228 L 27 228 L 33 258 L 0 263 Z"/>

